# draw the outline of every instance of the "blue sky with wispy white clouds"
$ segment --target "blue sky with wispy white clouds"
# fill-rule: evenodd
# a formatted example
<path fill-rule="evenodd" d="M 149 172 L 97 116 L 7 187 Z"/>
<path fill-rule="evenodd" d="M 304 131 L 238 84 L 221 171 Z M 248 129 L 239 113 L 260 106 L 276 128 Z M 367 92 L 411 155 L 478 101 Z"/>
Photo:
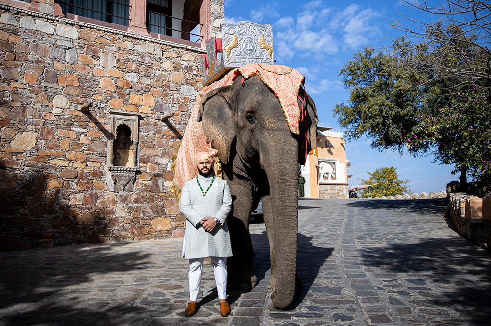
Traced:
<path fill-rule="evenodd" d="M 347 103 L 350 95 L 339 70 L 365 46 L 388 46 L 391 38 L 402 35 L 391 25 L 399 20 L 410 25 L 403 14 L 424 22 L 438 20 L 436 15 L 400 0 L 225 0 L 225 21 L 273 25 L 276 64 L 295 68 L 305 76 L 305 89 L 317 107 L 318 125 L 343 134 L 345 130 L 332 113 L 335 105 Z M 346 140 L 353 185 L 368 179 L 368 172 L 392 166 L 401 179 L 409 180 L 411 192 L 418 194 L 446 190 L 448 182 L 459 178 L 451 174 L 453 166 L 432 163 L 433 155 L 401 156 L 372 149 L 370 139 Z"/>

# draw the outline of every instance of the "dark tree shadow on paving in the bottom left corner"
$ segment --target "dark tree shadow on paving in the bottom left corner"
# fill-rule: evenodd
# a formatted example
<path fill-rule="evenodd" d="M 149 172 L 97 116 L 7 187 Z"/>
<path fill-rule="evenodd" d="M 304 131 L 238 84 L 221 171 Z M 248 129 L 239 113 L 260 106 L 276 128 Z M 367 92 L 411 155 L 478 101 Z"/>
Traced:
<path fill-rule="evenodd" d="M 94 283 L 93 274 L 113 275 L 148 267 L 145 260 L 150 254 L 113 251 L 114 246 L 124 245 L 77 246 L 75 250 L 70 249 L 72 257 L 62 254 L 66 248 L 5 254 L 0 268 L 0 324 L 141 325 L 142 319 L 138 316 L 150 316 L 150 320 L 155 319 L 152 325 L 160 325 L 160 318 L 170 313 L 165 311 L 168 299 L 157 299 L 161 303 L 158 306 L 151 301 L 141 301 L 139 306 L 132 305 L 130 301 L 135 301 L 135 297 L 126 298 L 128 302 L 124 302 L 125 298 L 109 300 L 110 296 L 89 298 L 87 301 L 92 302 L 82 302 L 79 296 L 89 290 L 73 288 L 82 283 Z M 107 294 L 123 282 L 112 283 L 100 287 L 101 293 Z M 94 284 L 94 287 L 98 286 Z M 78 308 L 84 305 L 86 308 Z"/>

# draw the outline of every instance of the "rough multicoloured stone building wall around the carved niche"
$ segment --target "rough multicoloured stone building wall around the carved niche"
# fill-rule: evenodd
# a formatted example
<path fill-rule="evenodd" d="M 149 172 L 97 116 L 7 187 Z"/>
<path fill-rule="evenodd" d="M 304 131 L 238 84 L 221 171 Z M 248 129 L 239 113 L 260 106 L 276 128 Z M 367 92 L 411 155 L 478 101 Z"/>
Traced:
<path fill-rule="evenodd" d="M 170 162 L 204 51 L 25 10 L 0 15 L 0 250 L 183 236 Z M 114 112 L 138 120 L 132 191 L 110 191 L 104 177 Z"/>

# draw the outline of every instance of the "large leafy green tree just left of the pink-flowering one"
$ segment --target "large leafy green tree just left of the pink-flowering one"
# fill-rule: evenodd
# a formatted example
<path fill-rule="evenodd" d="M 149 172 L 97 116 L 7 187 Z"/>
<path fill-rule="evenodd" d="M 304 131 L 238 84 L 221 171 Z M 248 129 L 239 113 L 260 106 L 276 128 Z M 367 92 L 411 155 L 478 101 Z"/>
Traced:
<path fill-rule="evenodd" d="M 402 152 L 408 132 L 428 108 L 424 87 L 413 87 L 411 76 L 394 69 L 397 66 L 396 57 L 365 47 L 341 69 L 350 98 L 348 103 L 336 104 L 333 113 L 346 128 L 347 138 L 366 136 L 372 148 Z"/>

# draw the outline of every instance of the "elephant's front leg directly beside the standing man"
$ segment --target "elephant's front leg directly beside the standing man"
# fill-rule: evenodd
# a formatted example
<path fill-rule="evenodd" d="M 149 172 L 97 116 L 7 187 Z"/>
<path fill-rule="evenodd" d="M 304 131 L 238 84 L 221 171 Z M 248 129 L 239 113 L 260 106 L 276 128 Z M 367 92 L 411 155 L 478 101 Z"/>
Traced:
<path fill-rule="evenodd" d="M 228 286 L 236 290 L 250 290 L 257 285 L 252 270 L 252 243 L 249 218 L 252 211 L 251 190 L 236 182 L 229 182 L 232 194 L 232 211 L 227 218 L 233 257 L 227 259 Z"/>

